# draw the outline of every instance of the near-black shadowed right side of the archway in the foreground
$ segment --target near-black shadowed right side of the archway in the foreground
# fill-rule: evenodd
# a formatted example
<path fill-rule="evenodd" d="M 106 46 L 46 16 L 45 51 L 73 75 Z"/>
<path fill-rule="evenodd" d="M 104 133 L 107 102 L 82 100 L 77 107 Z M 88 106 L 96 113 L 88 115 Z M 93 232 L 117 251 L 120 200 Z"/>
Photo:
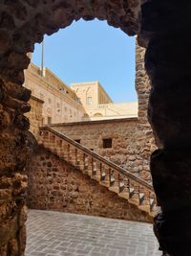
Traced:
<path fill-rule="evenodd" d="M 144 1 L 145 2 L 145 1 Z M 149 120 L 159 147 L 151 157 L 161 206 L 155 219 L 160 248 L 191 255 L 191 51 L 189 1 L 150 0 L 141 8 L 141 41 L 152 81 Z"/>

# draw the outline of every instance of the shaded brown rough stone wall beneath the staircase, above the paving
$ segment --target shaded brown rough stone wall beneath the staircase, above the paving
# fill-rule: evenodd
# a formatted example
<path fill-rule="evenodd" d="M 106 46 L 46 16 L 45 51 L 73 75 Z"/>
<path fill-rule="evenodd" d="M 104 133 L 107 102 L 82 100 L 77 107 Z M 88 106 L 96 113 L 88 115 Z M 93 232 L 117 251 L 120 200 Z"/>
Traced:
<path fill-rule="evenodd" d="M 30 208 L 52 209 L 75 214 L 95 215 L 131 221 L 152 221 L 137 206 L 119 198 L 96 180 L 38 149 L 32 155 L 29 175 Z"/>

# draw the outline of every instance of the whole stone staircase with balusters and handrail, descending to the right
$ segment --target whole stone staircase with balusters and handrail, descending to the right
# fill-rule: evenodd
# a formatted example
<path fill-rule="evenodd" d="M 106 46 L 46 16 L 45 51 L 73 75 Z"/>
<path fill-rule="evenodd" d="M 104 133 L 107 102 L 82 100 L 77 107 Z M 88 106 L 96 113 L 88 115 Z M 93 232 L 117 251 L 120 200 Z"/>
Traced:
<path fill-rule="evenodd" d="M 140 210 L 155 216 L 158 207 L 154 189 L 143 179 L 53 128 L 40 128 L 40 143 L 83 174 L 89 175 L 110 191 L 117 193 L 118 197 L 127 199 Z"/>

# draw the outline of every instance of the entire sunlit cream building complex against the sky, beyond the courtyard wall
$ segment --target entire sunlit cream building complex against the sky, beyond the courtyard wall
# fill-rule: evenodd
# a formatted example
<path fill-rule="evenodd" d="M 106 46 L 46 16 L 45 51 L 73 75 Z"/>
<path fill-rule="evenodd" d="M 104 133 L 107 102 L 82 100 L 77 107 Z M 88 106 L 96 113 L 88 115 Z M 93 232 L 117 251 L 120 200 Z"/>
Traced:
<path fill-rule="evenodd" d="M 33 63 L 25 77 L 25 86 L 32 90 L 29 118 L 36 126 L 138 116 L 137 102 L 115 104 L 99 81 L 77 82 L 69 87 L 51 70 L 43 68 L 41 72 Z M 42 120 L 38 112 L 42 112 Z"/>

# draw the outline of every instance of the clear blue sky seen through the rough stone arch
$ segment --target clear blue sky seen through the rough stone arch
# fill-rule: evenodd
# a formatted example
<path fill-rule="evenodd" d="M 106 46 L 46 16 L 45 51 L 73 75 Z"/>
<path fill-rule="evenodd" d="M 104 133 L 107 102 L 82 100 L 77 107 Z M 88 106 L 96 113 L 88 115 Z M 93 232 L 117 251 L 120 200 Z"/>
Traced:
<path fill-rule="evenodd" d="M 41 45 L 32 62 L 41 63 Z M 137 101 L 135 37 L 108 26 L 106 21 L 74 22 L 45 36 L 45 66 L 68 85 L 100 81 L 115 103 Z"/>

